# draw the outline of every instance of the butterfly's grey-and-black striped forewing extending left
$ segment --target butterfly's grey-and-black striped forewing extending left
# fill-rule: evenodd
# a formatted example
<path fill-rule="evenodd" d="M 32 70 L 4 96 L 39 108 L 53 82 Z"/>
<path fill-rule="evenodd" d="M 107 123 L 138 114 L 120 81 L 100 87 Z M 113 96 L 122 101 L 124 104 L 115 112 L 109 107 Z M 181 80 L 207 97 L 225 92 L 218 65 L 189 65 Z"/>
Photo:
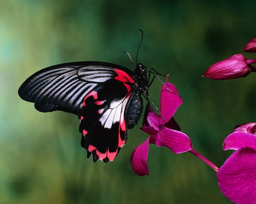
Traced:
<path fill-rule="evenodd" d="M 114 70 L 131 71 L 106 62 L 71 62 L 40 70 L 20 86 L 18 94 L 34 102 L 40 112 L 65 111 L 78 114 L 82 100 L 98 84 L 113 79 Z"/>

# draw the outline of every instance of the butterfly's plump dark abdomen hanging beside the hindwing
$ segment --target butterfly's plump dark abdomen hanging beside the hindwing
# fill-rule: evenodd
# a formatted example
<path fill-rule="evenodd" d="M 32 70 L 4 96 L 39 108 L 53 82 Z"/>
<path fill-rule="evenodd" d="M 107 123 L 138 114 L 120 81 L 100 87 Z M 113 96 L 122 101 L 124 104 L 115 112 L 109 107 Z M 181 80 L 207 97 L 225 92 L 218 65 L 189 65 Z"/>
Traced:
<path fill-rule="evenodd" d="M 125 109 L 125 120 L 128 129 L 134 128 L 138 123 L 143 110 L 143 101 L 141 93 L 135 91 L 133 97 L 130 98 Z"/>

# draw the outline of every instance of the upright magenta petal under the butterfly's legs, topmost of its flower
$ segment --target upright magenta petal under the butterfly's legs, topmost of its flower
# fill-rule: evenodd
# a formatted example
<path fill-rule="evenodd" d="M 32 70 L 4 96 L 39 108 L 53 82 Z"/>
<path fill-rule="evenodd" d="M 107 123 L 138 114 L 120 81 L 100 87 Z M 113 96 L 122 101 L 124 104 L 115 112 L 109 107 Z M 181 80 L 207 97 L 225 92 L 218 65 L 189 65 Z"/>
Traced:
<path fill-rule="evenodd" d="M 164 120 L 159 118 L 159 125 L 166 124 L 182 103 L 183 101 L 174 84 L 164 83 L 160 94 L 160 113 Z"/>

